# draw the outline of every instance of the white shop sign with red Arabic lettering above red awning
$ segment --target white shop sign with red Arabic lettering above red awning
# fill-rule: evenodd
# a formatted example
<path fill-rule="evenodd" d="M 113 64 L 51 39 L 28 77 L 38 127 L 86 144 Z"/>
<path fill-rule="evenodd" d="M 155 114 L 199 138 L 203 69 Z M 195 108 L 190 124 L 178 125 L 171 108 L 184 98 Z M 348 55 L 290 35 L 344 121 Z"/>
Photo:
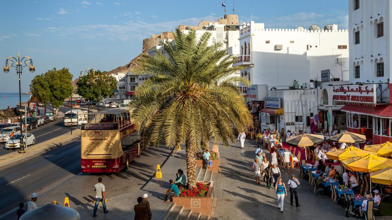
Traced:
<path fill-rule="evenodd" d="M 366 104 L 376 104 L 377 102 L 375 84 L 366 86 L 337 86 L 333 88 L 333 91 L 333 100 L 335 102 Z"/>

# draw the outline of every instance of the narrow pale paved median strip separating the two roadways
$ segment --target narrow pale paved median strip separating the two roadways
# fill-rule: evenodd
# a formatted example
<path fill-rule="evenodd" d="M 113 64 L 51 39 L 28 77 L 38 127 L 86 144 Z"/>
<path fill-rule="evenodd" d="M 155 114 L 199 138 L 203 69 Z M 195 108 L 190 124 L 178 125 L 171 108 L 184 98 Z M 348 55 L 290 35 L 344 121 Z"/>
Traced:
<path fill-rule="evenodd" d="M 27 158 L 31 158 L 32 156 L 35 155 L 44 154 L 45 152 L 61 147 L 79 137 L 80 137 L 80 129 L 75 129 L 72 131 L 72 134 L 68 132 L 60 136 L 57 136 L 55 138 L 44 141 L 42 143 L 38 143 L 29 146 L 28 148 L 25 148 L 26 151 L 25 154 L 19 154 L 16 151 L 9 154 L 1 155 L 0 168 L 6 167 L 11 164 L 15 164 L 19 161 L 22 161 Z"/>

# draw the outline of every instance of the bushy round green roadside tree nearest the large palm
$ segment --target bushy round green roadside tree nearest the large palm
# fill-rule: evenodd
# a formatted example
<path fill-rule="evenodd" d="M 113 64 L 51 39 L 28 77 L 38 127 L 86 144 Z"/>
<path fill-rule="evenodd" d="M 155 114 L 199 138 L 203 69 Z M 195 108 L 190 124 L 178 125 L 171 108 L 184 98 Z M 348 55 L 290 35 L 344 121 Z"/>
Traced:
<path fill-rule="evenodd" d="M 117 89 L 117 80 L 107 72 L 90 70 L 87 75 L 79 78 L 76 85 L 76 93 L 84 99 L 89 100 L 90 94 L 91 100 L 100 101 L 114 94 L 114 90 Z"/>

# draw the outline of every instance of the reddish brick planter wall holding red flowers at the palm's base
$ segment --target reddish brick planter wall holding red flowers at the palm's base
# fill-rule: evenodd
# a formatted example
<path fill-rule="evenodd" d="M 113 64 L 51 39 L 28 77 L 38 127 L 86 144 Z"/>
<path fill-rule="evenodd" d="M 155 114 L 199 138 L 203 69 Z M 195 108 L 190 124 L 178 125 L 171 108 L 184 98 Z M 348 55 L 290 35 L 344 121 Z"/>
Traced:
<path fill-rule="evenodd" d="M 215 182 L 211 181 L 207 196 L 205 197 L 173 197 L 173 203 L 184 206 L 184 209 L 192 209 L 192 212 L 200 212 L 201 215 L 211 216 L 212 199 L 214 198 Z"/>

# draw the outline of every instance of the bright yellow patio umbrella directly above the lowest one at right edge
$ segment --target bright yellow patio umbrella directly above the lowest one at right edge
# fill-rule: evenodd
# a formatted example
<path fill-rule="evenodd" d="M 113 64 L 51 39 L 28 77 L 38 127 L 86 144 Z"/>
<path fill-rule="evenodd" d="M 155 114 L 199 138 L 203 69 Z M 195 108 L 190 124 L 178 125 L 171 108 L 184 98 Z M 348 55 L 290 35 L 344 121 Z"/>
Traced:
<path fill-rule="evenodd" d="M 347 169 L 371 173 L 384 168 L 392 168 L 392 160 L 381 156 L 367 155 L 347 165 Z"/>

